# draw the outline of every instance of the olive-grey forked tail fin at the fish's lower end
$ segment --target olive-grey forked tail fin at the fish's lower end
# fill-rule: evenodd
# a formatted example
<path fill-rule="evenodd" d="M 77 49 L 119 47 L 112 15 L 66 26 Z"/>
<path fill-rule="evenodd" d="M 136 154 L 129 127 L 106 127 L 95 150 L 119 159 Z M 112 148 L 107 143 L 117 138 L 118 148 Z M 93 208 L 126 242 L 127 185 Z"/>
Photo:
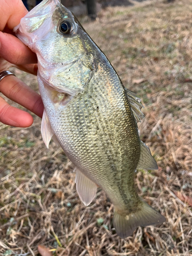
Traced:
<path fill-rule="evenodd" d="M 145 202 L 142 202 L 138 211 L 127 215 L 122 212 L 122 214 L 114 210 L 113 224 L 118 236 L 121 238 L 131 236 L 138 226 L 161 224 L 165 221 L 165 218 L 159 212 Z"/>

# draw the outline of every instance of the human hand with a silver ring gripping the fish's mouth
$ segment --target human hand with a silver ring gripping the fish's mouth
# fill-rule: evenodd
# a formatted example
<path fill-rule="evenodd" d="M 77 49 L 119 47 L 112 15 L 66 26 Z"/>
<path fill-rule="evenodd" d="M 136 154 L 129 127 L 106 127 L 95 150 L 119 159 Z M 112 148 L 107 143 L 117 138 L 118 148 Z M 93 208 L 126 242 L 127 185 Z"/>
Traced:
<path fill-rule="evenodd" d="M 37 58 L 35 53 L 12 33 L 20 19 L 27 14 L 27 9 L 21 0 L 0 0 L 0 6 L 0 72 L 8 70 L 14 65 L 36 75 Z M 9 99 L 42 117 L 44 105 L 40 95 L 17 77 L 9 75 L 3 78 L 0 82 L 0 91 Z M 0 121 L 12 126 L 28 127 L 33 123 L 33 117 L 29 113 L 9 105 L 0 97 Z"/>

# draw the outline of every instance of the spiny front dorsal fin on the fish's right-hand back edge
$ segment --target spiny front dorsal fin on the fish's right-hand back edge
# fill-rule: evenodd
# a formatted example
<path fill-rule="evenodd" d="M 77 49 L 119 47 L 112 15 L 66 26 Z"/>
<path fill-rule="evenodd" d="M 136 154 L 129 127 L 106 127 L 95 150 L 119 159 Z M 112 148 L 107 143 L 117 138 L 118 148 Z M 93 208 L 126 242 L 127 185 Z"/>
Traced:
<path fill-rule="evenodd" d="M 144 114 L 141 112 L 141 109 L 144 106 L 141 104 L 141 99 L 136 96 L 136 93 L 125 88 L 126 95 L 130 101 L 131 108 L 134 114 L 134 117 L 137 122 L 140 122 L 140 118 L 144 117 Z"/>

